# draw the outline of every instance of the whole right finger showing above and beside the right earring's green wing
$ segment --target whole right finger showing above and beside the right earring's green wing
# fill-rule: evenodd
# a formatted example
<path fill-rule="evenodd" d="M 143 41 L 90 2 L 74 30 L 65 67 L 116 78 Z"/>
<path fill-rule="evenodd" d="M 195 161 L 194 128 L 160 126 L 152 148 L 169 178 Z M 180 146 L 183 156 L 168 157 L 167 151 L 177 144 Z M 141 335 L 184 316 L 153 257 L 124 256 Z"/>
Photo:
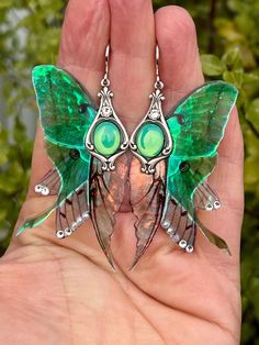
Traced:
<path fill-rule="evenodd" d="M 182 97 L 204 82 L 202 74 L 196 33 L 189 13 L 179 7 L 167 7 L 156 14 L 156 36 L 160 47 L 160 76 L 165 82 L 169 110 Z M 238 257 L 240 236 L 240 214 L 243 209 L 243 141 L 240 126 L 236 114 L 230 116 L 226 134 L 219 147 L 219 158 L 215 171 L 210 178 L 215 191 L 223 201 L 223 209 L 213 212 L 202 212 L 201 221 L 210 230 L 224 237 L 230 249 Z M 233 164 L 236 166 L 233 169 Z M 232 210 L 236 209 L 239 213 Z M 235 235 L 229 229 L 237 229 Z M 196 249 L 218 254 L 207 241 L 198 233 Z M 227 259 L 227 257 L 226 257 Z"/>

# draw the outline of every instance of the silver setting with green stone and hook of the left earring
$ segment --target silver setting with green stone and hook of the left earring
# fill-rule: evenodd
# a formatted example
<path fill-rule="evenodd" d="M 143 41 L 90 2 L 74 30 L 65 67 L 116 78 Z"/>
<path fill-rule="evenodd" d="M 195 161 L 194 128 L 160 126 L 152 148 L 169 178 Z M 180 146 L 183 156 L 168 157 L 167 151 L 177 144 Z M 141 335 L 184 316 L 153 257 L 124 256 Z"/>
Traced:
<path fill-rule="evenodd" d="M 110 80 L 108 77 L 110 47 L 105 52 L 105 75 L 101 81 L 102 90 L 99 92 L 101 98 L 98 114 L 87 134 L 86 145 L 92 156 L 102 163 L 102 170 L 114 170 L 114 160 L 124 153 L 128 146 L 127 133 L 119 120 L 111 98 L 112 91 L 109 89 Z"/>

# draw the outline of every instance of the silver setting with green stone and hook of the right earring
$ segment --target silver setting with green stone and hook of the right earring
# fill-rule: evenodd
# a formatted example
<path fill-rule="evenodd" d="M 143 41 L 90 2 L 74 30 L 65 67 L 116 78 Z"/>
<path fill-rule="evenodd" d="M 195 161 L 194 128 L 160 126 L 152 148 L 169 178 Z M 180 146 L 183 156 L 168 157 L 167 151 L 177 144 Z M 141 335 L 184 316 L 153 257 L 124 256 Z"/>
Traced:
<path fill-rule="evenodd" d="M 164 84 L 158 70 L 159 49 L 156 47 L 156 82 L 155 91 L 149 96 L 151 102 L 147 114 L 133 132 L 130 146 L 142 162 L 142 171 L 154 174 L 158 162 L 168 157 L 172 151 L 172 140 L 166 123 L 161 101 Z"/>

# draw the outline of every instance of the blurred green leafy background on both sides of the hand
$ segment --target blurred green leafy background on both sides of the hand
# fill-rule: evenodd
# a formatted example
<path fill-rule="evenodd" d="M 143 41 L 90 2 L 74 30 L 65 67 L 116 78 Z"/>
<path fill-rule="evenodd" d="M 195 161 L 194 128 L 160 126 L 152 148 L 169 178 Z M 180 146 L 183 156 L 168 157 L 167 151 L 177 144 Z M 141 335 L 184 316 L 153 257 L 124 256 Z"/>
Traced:
<path fill-rule="evenodd" d="M 241 241 L 241 344 L 259 345 L 259 0 L 154 0 L 182 5 L 198 30 L 203 71 L 239 89 L 246 209 Z M 0 255 L 30 176 L 37 108 L 31 69 L 55 64 L 66 0 L 0 0 Z M 235 192 L 235 191 L 230 191 Z"/>

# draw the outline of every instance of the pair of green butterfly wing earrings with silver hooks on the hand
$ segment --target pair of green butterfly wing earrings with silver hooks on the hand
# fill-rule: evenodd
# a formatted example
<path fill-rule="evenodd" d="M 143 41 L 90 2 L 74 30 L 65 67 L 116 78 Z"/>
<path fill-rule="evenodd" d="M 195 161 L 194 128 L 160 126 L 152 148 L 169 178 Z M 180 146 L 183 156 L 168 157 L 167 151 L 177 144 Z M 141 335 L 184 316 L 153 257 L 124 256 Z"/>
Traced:
<path fill-rule="evenodd" d="M 40 225 L 54 211 L 58 238 L 71 235 L 90 218 L 98 241 L 114 267 L 110 244 L 128 180 L 123 153 L 130 147 L 140 160 L 139 174 L 147 177 L 139 186 L 136 180 L 130 180 L 133 212 L 137 216 L 133 266 L 159 225 L 188 253 L 193 251 L 198 227 L 210 242 L 229 252 L 225 241 L 201 223 L 198 210 L 221 207 L 206 179 L 216 165 L 217 147 L 237 90 L 224 81 L 204 84 L 165 116 L 158 63 L 156 47 L 156 82 L 150 107 L 131 138 L 111 101 L 109 47 L 99 107 L 66 70 L 49 65 L 34 68 L 33 85 L 46 153 L 54 165 L 35 186 L 35 192 L 57 198 L 47 210 L 26 220 L 18 235 Z"/>

